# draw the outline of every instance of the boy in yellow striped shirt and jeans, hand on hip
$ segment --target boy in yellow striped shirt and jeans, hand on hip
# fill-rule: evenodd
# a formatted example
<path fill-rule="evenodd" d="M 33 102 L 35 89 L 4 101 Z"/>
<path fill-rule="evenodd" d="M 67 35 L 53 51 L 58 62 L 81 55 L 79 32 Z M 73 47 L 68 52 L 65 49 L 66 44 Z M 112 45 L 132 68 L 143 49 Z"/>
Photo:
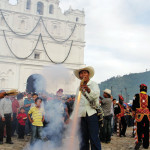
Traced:
<path fill-rule="evenodd" d="M 42 99 L 37 97 L 35 99 L 35 106 L 30 108 L 28 112 L 29 120 L 32 123 L 31 145 L 33 145 L 37 139 L 41 139 L 41 131 L 44 122 L 44 109 L 41 107 L 41 104 Z M 32 119 L 30 115 L 32 115 Z"/>

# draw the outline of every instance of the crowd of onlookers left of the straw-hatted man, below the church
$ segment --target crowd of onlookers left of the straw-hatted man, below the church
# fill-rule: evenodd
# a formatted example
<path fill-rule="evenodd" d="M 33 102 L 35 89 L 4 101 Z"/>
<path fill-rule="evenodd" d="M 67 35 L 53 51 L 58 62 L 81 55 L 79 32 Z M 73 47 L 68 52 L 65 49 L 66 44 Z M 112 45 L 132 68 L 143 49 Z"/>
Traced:
<path fill-rule="evenodd" d="M 13 144 L 11 137 L 17 135 L 18 139 L 31 136 L 31 143 L 40 139 L 42 127 L 48 124 L 44 119 L 46 106 L 54 100 L 60 101 L 66 123 L 73 111 L 75 96 L 63 95 L 63 89 L 59 89 L 56 95 L 23 92 L 0 99 L 0 144 L 3 144 L 3 138 L 6 138 L 6 143 Z"/>

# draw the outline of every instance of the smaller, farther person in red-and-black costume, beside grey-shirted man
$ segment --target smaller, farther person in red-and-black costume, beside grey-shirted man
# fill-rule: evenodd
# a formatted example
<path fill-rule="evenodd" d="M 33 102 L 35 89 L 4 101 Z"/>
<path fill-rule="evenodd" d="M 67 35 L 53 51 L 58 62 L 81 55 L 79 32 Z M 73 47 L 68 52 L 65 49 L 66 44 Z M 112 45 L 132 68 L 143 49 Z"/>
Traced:
<path fill-rule="evenodd" d="M 117 103 L 115 105 L 115 110 L 114 113 L 118 119 L 119 122 L 119 136 L 122 137 L 126 137 L 125 133 L 126 133 L 126 129 L 127 129 L 127 123 L 125 120 L 125 106 L 124 106 L 124 98 L 122 97 L 122 95 L 118 95 L 119 96 L 119 103 Z"/>

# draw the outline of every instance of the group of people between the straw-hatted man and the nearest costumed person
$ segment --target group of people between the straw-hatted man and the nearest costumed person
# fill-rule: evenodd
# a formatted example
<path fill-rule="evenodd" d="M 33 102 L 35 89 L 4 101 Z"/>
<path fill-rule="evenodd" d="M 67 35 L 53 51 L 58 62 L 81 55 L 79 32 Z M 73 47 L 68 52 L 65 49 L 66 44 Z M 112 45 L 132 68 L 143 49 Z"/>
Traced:
<path fill-rule="evenodd" d="M 111 136 L 117 134 L 126 137 L 127 126 L 134 125 L 131 104 L 124 103 L 124 98 L 119 95 L 118 103 L 112 97 L 111 90 L 105 89 L 103 97 L 100 97 L 101 107 L 104 113 L 103 127 L 100 129 L 101 142 L 110 143 Z"/>

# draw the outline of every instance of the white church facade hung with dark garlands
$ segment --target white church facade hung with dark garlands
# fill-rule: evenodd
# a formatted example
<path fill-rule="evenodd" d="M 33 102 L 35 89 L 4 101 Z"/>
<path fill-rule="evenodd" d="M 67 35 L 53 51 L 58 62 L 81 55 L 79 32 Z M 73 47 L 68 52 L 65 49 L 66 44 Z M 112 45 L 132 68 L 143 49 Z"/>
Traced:
<path fill-rule="evenodd" d="M 83 67 L 84 17 L 72 8 L 62 13 L 59 0 L 0 0 L 0 90 L 25 91 L 43 67 L 62 64 L 71 74 Z M 74 85 L 62 87 L 65 93 L 75 93 L 73 78 Z"/>

